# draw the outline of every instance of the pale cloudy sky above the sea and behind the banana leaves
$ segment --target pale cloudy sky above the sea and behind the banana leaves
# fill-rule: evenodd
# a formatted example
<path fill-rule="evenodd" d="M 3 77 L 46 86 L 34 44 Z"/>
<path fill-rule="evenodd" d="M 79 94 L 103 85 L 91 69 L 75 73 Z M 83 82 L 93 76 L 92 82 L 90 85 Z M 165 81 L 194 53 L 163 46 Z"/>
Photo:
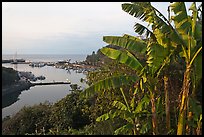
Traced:
<path fill-rule="evenodd" d="M 91 54 L 107 45 L 103 36 L 138 36 L 134 24 L 147 23 L 123 3 L 2 2 L 2 54 Z M 152 5 L 167 16 L 169 2 Z"/>

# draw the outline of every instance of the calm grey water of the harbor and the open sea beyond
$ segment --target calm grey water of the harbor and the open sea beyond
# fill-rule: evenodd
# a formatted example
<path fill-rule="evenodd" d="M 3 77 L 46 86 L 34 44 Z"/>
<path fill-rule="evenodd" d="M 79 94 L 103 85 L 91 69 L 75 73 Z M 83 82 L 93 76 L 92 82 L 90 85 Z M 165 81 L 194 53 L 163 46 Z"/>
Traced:
<path fill-rule="evenodd" d="M 59 60 L 69 60 L 70 62 L 84 61 L 87 55 L 42 55 L 42 54 L 19 54 L 17 59 L 25 59 L 34 62 L 56 62 Z M 13 59 L 14 55 L 2 55 L 2 59 Z M 71 81 L 72 84 L 78 84 L 81 89 L 88 87 L 86 83 L 81 82 L 81 78 L 85 79 L 86 75 L 77 73 L 75 70 L 65 70 L 55 68 L 53 66 L 31 67 L 29 64 L 10 64 L 2 63 L 2 66 L 17 69 L 18 71 L 32 72 L 35 76 L 45 76 L 46 79 L 37 82 L 53 82 L 53 81 Z M 33 106 L 39 103 L 50 102 L 56 103 L 60 99 L 71 93 L 70 85 L 43 85 L 31 87 L 24 90 L 19 95 L 8 95 L 2 98 L 2 119 L 6 116 L 15 115 L 24 106 Z"/>

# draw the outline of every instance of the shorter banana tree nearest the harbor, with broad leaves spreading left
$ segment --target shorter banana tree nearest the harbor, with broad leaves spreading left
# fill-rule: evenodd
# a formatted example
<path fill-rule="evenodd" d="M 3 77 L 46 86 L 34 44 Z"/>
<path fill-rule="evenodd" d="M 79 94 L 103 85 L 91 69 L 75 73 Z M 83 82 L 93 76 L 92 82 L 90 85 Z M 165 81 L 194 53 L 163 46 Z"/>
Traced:
<path fill-rule="evenodd" d="M 135 76 L 119 75 L 107 78 L 90 86 L 84 93 L 86 95 L 91 95 L 104 89 L 129 85 L 131 82 L 139 82 L 141 90 L 146 90 L 146 93 L 148 93 L 150 97 L 153 134 L 158 134 L 155 105 L 155 93 L 158 84 L 157 76 L 164 63 L 168 62 L 167 60 L 169 60 L 169 54 L 171 54 L 171 52 L 168 52 L 163 46 L 154 41 L 144 41 L 127 34 L 122 37 L 105 36 L 103 40 L 108 44 L 120 46 L 122 49 L 117 50 L 104 47 L 100 51 L 109 58 L 117 60 L 119 63 L 126 64 L 131 69 L 135 70 L 136 74 Z M 147 61 L 140 62 L 134 54 L 137 52 L 145 54 L 147 56 Z"/>

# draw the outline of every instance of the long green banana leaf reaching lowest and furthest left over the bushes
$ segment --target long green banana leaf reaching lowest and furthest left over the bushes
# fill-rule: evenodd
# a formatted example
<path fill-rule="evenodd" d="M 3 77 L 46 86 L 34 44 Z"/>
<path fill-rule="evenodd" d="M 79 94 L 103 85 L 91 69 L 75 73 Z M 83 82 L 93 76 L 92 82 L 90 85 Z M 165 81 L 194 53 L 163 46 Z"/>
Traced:
<path fill-rule="evenodd" d="M 94 83 L 93 85 L 85 89 L 85 91 L 81 93 L 81 96 L 89 97 L 102 90 L 118 88 L 124 85 L 130 85 L 137 79 L 138 77 L 136 76 L 124 76 L 124 75 L 111 76 L 104 80 L 100 80 Z"/>

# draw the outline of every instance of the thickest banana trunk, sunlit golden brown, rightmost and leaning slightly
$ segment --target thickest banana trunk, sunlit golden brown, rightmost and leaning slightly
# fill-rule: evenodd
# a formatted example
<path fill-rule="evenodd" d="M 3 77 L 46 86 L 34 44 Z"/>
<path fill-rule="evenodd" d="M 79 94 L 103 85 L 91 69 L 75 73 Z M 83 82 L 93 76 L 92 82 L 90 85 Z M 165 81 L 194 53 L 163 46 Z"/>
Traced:
<path fill-rule="evenodd" d="M 179 109 L 178 125 L 177 125 L 177 135 L 182 135 L 184 133 L 184 127 L 186 123 L 186 110 L 187 110 L 187 100 L 190 88 L 190 65 L 186 65 L 186 71 L 184 73 L 183 86 L 182 86 L 182 97 L 181 105 Z"/>

